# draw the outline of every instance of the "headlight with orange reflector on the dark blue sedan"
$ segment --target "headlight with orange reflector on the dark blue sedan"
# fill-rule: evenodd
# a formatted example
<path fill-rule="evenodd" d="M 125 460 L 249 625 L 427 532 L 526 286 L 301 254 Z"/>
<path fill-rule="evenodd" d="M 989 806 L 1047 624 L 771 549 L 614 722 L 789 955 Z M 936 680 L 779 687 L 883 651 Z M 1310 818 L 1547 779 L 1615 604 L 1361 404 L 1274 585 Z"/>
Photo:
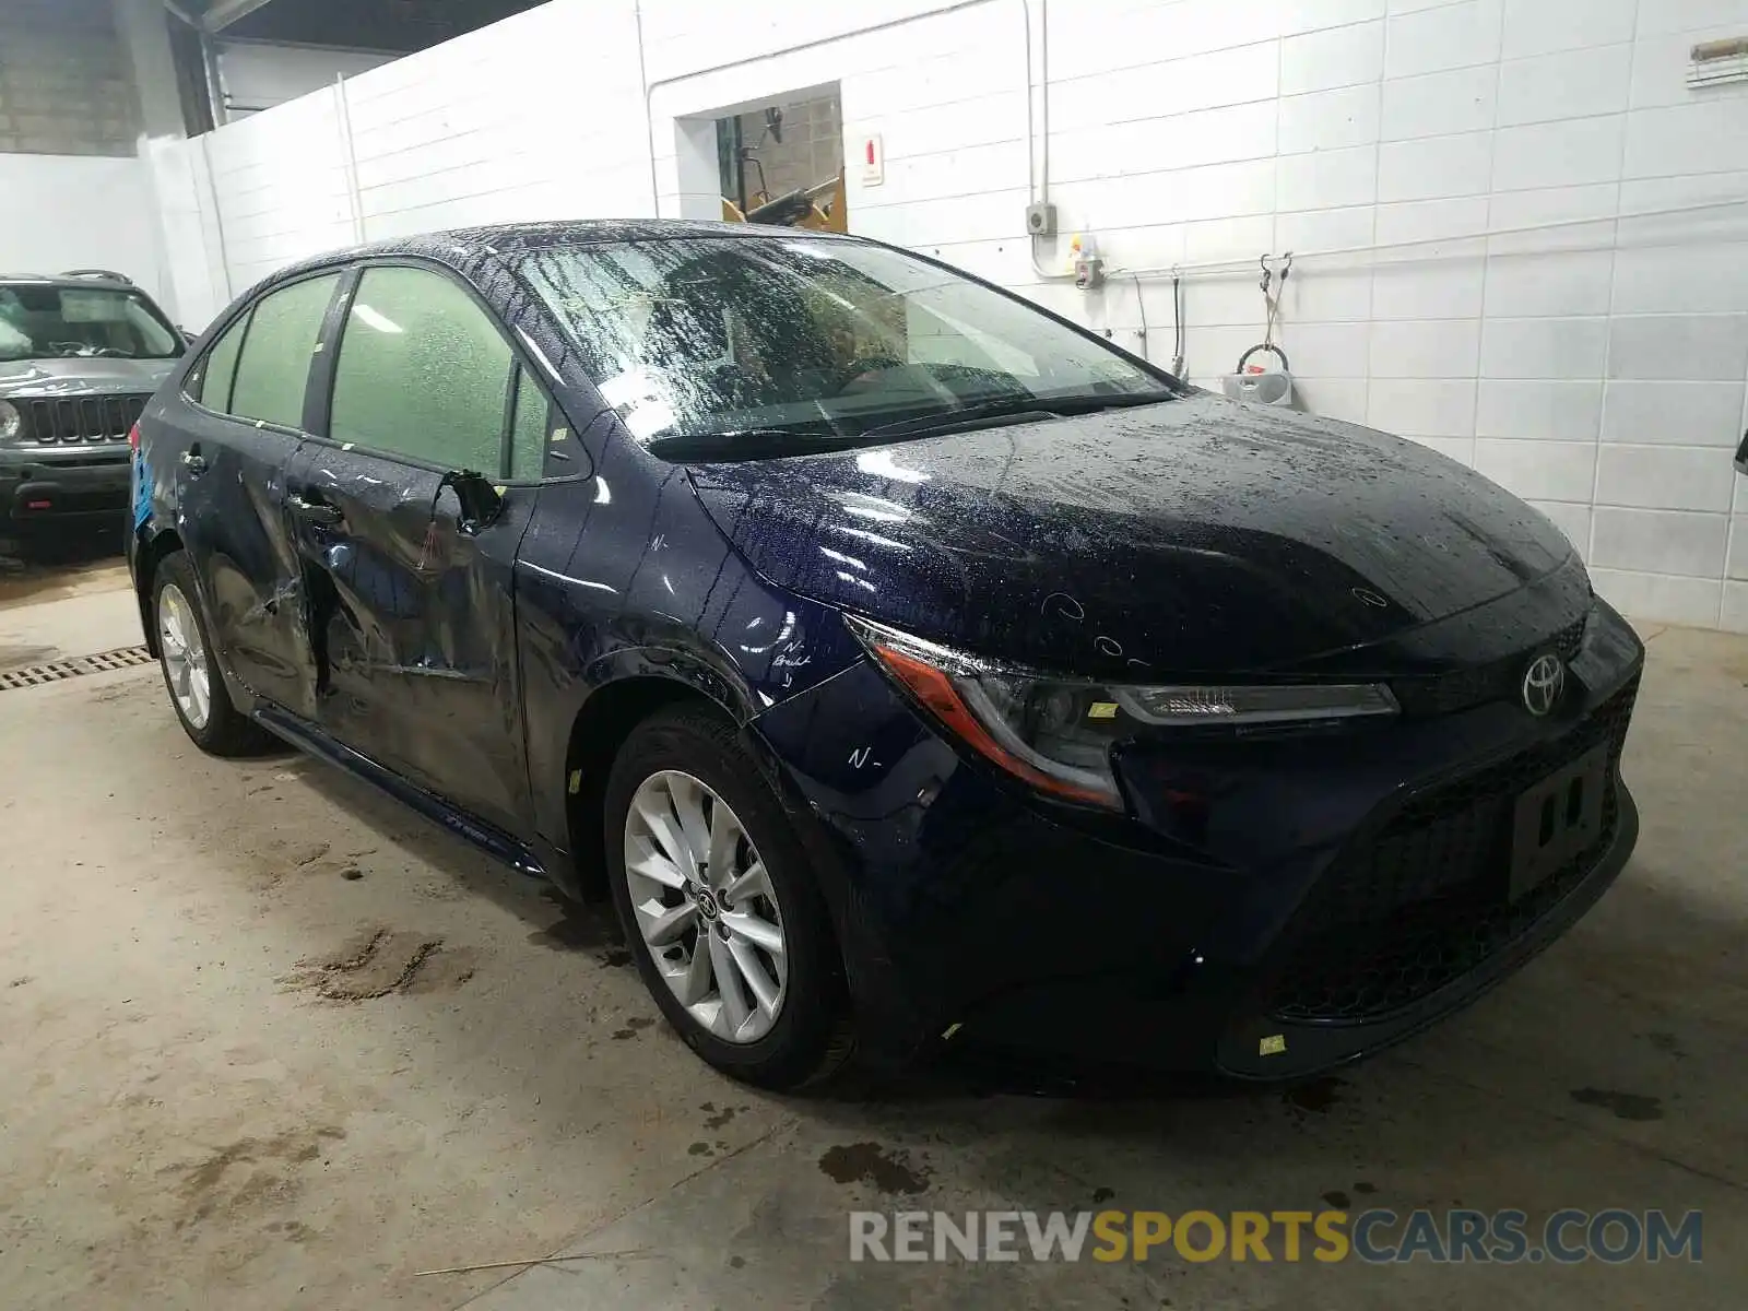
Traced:
<path fill-rule="evenodd" d="M 846 615 L 850 631 L 967 746 L 1040 792 L 1122 809 L 1110 748 L 1148 731 L 1398 713 L 1381 683 L 1117 685 L 1009 669 Z"/>

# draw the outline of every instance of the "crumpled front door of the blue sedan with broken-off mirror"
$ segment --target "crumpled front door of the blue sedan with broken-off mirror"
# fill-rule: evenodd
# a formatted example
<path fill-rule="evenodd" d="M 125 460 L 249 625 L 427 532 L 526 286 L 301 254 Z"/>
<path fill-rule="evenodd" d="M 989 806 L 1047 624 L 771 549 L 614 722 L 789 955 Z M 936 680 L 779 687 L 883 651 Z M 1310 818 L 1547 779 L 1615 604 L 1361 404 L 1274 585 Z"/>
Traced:
<path fill-rule="evenodd" d="M 512 579 L 538 488 L 512 475 L 542 456 L 551 402 L 454 274 L 365 264 L 341 295 L 325 404 L 287 477 L 315 718 L 516 829 L 528 773 Z"/>

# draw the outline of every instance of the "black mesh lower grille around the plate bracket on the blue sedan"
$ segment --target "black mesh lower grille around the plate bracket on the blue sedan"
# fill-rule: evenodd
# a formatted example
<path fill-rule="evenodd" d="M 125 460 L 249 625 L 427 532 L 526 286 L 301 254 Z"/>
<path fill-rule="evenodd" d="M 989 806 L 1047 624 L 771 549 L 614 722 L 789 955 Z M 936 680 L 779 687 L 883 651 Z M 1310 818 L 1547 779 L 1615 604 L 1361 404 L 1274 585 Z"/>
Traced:
<path fill-rule="evenodd" d="M 1523 937 L 1613 841 L 1613 780 L 1636 694 L 1638 680 L 1559 741 L 1416 797 L 1337 857 L 1288 930 L 1269 1012 L 1287 1021 L 1381 1019 Z M 1533 891 L 1507 900 L 1517 795 L 1599 743 L 1610 745 L 1601 836 Z"/>

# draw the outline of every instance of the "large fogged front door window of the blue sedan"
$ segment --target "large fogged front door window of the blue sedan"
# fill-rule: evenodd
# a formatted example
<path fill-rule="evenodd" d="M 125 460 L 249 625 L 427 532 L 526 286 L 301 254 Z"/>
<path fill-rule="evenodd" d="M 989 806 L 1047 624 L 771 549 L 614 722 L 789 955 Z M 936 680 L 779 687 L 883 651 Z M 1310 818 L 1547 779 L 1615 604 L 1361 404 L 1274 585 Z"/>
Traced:
<path fill-rule="evenodd" d="M 329 437 L 502 477 L 510 346 L 451 278 L 365 267 L 334 364 Z"/>

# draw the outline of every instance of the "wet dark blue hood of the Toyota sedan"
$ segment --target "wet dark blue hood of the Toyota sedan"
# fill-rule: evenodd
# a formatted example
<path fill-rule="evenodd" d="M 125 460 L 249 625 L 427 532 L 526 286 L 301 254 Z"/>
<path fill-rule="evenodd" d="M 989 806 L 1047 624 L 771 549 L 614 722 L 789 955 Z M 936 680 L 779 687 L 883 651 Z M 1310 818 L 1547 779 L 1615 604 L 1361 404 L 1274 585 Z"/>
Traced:
<path fill-rule="evenodd" d="M 1089 676 L 1287 669 L 1571 556 L 1433 451 L 1208 393 L 690 477 L 778 586 Z"/>

